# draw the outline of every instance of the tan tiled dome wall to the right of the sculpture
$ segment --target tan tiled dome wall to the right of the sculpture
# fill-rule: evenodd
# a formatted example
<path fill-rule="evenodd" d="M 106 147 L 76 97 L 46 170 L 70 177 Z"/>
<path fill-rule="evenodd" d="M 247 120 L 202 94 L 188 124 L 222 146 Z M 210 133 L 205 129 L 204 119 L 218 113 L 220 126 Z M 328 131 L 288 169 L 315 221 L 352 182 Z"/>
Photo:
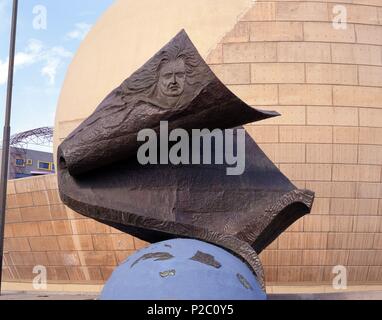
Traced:
<path fill-rule="evenodd" d="M 333 6 L 347 10 L 332 27 Z M 300 188 L 310 216 L 261 256 L 276 283 L 382 282 L 382 1 L 256 1 L 208 61 L 238 96 L 282 117 L 247 131 Z"/>

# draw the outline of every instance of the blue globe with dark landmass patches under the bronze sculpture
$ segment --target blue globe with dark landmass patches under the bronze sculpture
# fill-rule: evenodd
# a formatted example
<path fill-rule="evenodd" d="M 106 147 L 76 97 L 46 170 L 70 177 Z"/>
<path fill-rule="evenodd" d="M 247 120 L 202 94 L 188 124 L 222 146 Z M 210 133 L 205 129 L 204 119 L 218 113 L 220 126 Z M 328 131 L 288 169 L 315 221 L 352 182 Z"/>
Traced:
<path fill-rule="evenodd" d="M 266 300 L 239 258 L 190 239 L 155 243 L 117 267 L 101 300 Z"/>

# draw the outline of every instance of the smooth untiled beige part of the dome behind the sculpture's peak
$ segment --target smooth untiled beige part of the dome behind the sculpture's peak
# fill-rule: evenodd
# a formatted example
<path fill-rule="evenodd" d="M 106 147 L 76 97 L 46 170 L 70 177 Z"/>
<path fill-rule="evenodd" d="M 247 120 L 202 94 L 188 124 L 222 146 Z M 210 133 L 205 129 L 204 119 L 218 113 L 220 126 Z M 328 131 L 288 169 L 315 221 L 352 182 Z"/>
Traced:
<path fill-rule="evenodd" d="M 182 28 L 207 57 L 251 5 L 251 0 L 116 1 L 69 67 L 56 113 L 55 146 Z"/>

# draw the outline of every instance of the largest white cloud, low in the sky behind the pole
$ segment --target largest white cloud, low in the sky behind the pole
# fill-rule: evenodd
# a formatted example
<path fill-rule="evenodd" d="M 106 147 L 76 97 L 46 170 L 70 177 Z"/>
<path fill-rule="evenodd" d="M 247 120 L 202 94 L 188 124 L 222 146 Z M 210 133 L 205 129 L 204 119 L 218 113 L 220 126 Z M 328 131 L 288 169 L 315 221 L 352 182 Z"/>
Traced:
<path fill-rule="evenodd" d="M 26 48 L 15 54 L 15 70 L 41 64 L 41 74 L 48 78 L 49 84 L 54 85 L 57 70 L 62 66 L 64 59 L 71 58 L 72 55 L 63 47 L 48 47 L 40 40 L 30 39 Z M 8 63 L 8 59 L 0 60 L 0 85 L 7 82 Z"/>

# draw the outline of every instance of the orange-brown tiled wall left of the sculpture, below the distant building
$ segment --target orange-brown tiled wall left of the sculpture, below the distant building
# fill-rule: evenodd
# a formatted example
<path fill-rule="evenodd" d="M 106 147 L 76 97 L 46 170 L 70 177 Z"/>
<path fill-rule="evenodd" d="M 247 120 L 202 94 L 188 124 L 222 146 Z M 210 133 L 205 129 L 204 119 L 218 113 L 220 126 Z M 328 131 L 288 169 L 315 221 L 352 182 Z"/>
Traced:
<path fill-rule="evenodd" d="M 4 280 L 29 281 L 36 265 L 50 282 L 103 283 L 146 244 L 65 207 L 57 177 L 10 181 L 4 242 Z"/>

